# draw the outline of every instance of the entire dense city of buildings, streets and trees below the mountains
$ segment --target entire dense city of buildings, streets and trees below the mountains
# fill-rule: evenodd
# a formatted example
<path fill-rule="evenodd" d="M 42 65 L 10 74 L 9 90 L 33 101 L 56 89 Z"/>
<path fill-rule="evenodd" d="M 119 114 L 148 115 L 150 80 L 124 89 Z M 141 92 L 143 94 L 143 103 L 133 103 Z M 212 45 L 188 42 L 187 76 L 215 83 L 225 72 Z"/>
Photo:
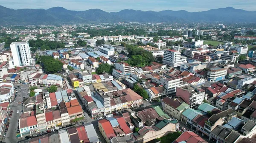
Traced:
<path fill-rule="evenodd" d="M 255 23 L 122 20 L 1 23 L 1 143 L 256 143 Z"/>

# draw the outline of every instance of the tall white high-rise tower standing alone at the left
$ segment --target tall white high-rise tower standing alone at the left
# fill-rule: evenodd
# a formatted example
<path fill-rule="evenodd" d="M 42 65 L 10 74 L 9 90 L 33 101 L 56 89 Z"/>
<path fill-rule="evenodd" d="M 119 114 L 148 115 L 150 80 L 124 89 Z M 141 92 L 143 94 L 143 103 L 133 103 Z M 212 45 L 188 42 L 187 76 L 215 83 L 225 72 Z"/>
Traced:
<path fill-rule="evenodd" d="M 26 66 L 31 64 L 31 54 L 28 42 L 12 42 L 10 44 L 12 58 L 9 60 L 9 66 Z"/>

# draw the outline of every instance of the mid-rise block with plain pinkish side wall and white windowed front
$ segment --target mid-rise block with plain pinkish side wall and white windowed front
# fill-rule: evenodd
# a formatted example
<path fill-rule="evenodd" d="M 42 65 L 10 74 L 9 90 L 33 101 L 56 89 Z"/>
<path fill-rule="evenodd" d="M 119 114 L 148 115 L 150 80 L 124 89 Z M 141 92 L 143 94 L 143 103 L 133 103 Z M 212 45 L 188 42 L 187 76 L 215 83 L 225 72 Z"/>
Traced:
<path fill-rule="evenodd" d="M 200 105 L 204 99 L 207 99 L 205 90 L 191 84 L 176 87 L 176 96 L 181 97 L 190 107 L 195 107 L 197 104 Z"/>

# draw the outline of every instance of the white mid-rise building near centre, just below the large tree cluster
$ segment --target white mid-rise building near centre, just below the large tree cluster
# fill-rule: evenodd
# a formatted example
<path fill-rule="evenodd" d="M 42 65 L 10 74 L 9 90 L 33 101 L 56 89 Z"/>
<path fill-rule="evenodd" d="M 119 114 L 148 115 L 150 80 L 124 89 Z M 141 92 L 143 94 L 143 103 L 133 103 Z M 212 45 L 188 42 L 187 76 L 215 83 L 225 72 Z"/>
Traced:
<path fill-rule="evenodd" d="M 113 69 L 112 75 L 116 79 L 124 79 L 129 77 L 132 73 L 134 73 L 134 67 L 131 67 L 126 62 L 118 62 L 115 63 L 115 69 Z"/>

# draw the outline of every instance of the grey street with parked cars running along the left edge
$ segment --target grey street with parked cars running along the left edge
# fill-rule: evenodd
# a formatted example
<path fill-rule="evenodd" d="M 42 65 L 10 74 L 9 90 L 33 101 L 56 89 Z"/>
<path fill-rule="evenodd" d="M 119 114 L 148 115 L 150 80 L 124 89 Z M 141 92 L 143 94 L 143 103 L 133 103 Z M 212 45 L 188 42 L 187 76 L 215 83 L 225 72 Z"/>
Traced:
<path fill-rule="evenodd" d="M 17 88 L 17 86 L 20 86 L 20 88 Z M 23 97 L 25 97 L 25 98 L 28 97 L 28 89 L 29 89 L 28 85 L 15 83 L 14 87 L 17 88 L 18 93 L 17 93 L 16 100 L 10 104 L 10 110 L 12 110 L 13 113 L 12 113 L 12 118 L 10 119 L 8 132 L 4 139 L 4 141 L 6 143 L 17 143 L 18 142 L 18 140 L 16 140 L 17 139 L 16 132 L 17 132 L 17 127 L 18 127 L 18 120 L 20 118 L 20 111 L 22 110 L 22 106 L 21 106 L 21 104 L 18 104 L 18 102 L 22 102 Z M 21 88 L 22 88 L 22 90 L 21 90 Z M 19 113 L 16 113 L 17 110 L 19 111 Z"/>

